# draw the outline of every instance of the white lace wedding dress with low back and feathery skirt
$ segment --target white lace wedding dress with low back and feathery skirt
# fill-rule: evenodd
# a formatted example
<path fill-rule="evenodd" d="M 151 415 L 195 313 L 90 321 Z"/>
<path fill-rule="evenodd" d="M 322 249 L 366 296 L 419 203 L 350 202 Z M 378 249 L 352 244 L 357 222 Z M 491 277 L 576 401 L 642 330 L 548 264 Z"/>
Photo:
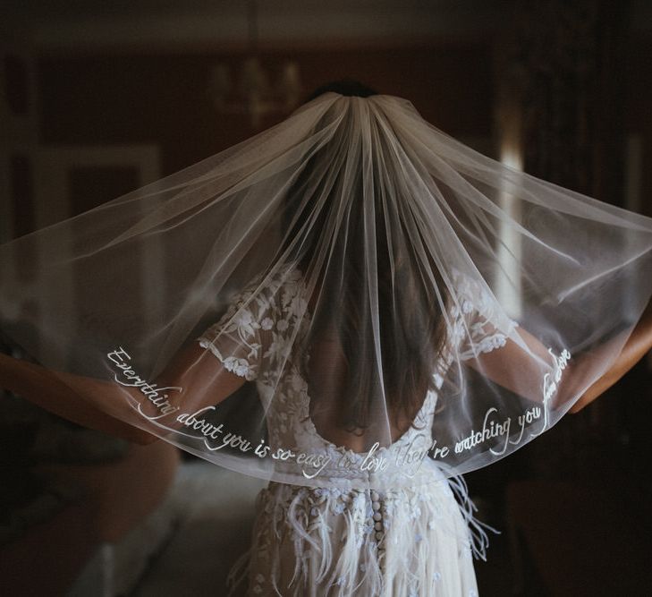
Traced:
<path fill-rule="evenodd" d="M 280 398 L 266 402 L 273 391 L 268 386 L 274 378 L 270 372 L 284 361 L 285 331 L 299 323 L 301 333 L 296 318 L 307 305 L 299 269 L 274 277 L 263 292 L 258 282 L 236 297 L 222 320 L 197 340 L 229 371 L 256 381 L 267 411 L 269 448 L 328 454 L 331 457 L 324 459 L 324 465 L 318 463 L 319 474 L 331 480 L 364 474 L 370 487 L 378 474 L 374 470 L 378 459 L 395 458 L 403 467 L 413 465 L 409 447 L 423 436 L 430 438 L 436 391 L 428 391 L 414 425 L 372 457 L 335 446 L 318 433 L 309 416 L 308 384 L 296 368 L 284 366 L 282 387 L 275 388 Z M 492 333 L 482 295 L 474 295 L 476 289 L 468 282 L 458 279 L 463 301 L 452 315 L 460 328 L 472 330 L 475 350 L 487 352 L 503 345 L 504 335 Z M 250 301 L 254 289 L 257 294 Z M 231 327 L 224 329 L 223 322 L 233 315 Z M 217 332 L 221 332 L 219 342 Z M 457 352 L 465 354 L 460 346 Z M 443 357 L 436 365 L 437 387 L 450 360 Z M 355 465 L 328 470 L 342 458 Z M 436 473 L 435 465 L 422 463 L 415 471 L 414 487 L 397 490 L 320 489 L 270 482 L 258 494 L 251 548 L 233 567 L 230 580 L 240 584 L 248 576 L 251 595 L 477 595 L 472 555 L 476 551 L 484 557 L 484 525 L 472 516 L 461 476 L 446 479 L 444 473 Z M 345 479 L 342 482 L 345 486 Z"/>

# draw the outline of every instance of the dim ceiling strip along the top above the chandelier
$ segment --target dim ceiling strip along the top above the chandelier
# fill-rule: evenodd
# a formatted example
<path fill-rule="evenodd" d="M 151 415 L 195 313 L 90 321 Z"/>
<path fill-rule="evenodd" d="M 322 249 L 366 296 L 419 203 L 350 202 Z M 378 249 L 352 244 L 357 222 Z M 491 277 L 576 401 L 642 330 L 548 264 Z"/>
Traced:
<path fill-rule="evenodd" d="M 420 43 L 491 35 L 518 0 L 258 0 L 263 47 Z M 243 0 L 3 0 L 5 38 L 39 49 L 245 47 Z M 652 30 L 652 2 L 632 0 L 632 27 Z"/>

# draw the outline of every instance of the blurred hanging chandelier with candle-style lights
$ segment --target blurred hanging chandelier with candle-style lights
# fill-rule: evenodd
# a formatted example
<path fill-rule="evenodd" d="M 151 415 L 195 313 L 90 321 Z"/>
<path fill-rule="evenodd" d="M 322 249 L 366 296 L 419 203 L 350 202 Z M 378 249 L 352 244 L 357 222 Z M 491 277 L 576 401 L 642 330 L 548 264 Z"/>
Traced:
<path fill-rule="evenodd" d="M 299 65 L 286 62 L 275 78 L 266 72 L 258 57 L 258 11 L 256 0 L 248 2 L 249 56 L 233 77 L 227 64 L 215 64 L 209 74 L 208 93 L 219 114 L 249 115 L 257 129 L 264 115 L 289 113 L 299 105 Z"/>

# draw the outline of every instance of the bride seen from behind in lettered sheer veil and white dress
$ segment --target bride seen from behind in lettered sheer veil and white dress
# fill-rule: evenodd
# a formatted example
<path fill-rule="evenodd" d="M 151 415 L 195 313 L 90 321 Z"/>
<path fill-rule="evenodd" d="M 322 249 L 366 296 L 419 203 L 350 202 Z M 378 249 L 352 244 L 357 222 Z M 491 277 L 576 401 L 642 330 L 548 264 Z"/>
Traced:
<path fill-rule="evenodd" d="M 267 479 L 232 573 L 252 595 L 476 594 L 488 527 L 462 473 L 652 346 L 649 218 L 356 81 L 73 219 L 0 247 L 0 272 L 44 249 L 30 286 L 0 286 L 0 324 L 45 365 L 0 355 L 0 385 Z M 115 267 L 134 254 L 165 268 L 130 310 L 153 276 Z"/>

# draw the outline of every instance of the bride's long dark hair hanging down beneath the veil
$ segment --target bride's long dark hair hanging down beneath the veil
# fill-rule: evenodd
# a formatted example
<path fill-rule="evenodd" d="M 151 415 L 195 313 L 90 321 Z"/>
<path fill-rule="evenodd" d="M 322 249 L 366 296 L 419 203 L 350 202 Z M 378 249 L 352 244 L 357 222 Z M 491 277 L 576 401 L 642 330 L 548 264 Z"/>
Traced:
<path fill-rule="evenodd" d="M 359 81 L 334 81 L 315 90 L 308 101 L 328 91 L 363 98 L 377 93 Z M 336 135 L 330 142 L 338 142 Z M 301 372 L 309 386 L 313 382 L 309 390 L 312 408 L 312 398 L 317 397 L 318 401 L 320 383 L 316 380 L 319 377 L 316 367 L 319 365 L 316 359 L 308 361 L 306 356 L 314 354 L 315 347 L 324 338 L 337 338 L 341 347 L 336 355 L 339 358 L 327 357 L 332 362 L 327 362 L 326 367 L 332 367 L 333 371 L 329 371 L 332 373 L 329 376 L 322 375 L 321 379 L 339 375 L 336 394 L 341 397 L 341 403 L 337 405 L 337 424 L 345 431 L 361 435 L 368 428 L 370 406 L 380 392 L 385 393 L 387 412 L 397 427 L 402 426 L 401 421 L 413 421 L 426 392 L 433 387 L 434 367 L 445 344 L 445 320 L 437 302 L 433 301 L 432 274 L 436 276 L 441 295 L 447 298 L 436 266 L 424 264 L 414 252 L 414 244 L 422 239 L 413 239 L 416 243 L 400 243 L 401 237 L 408 235 L 406 229 L 401 229 L 401 218 L 397 213 L 387 213 L 382 201 L 374 197 L 379 320 L 378 332 L 374 332 L 374 313 L 367 294 L 369 261 L 365 257 L 361 172 L 355 174 L 356 196 L 360 200 L 350 201 L 347 225 L 342 226 L 343 234 L 334 238 L 331 245 L 338 253 L 334 262 L 343 267 L 315 262 L 320 243 L 328 234 L 325 231 L 333 223 L 334 209 L 329 207 L 335 201 L 327 200 L 326 205 L 318 209 L 318 221 L 309 224 L 308 218 L 317 210 L 318 197 L 335 196 L 337 182 L 343 175 L 343 163 L 334 163 L 331 156 L 342 157 L 344 152 L 330 154 L 327 149 L 319 149 L 306 161 L 287 194 L 285 239 L 294 243 L 289 254 L 305 277 L 319 280 L 315 290 L 317 309 L 312 313 L 309 334 L 297 345 L 301 352 L 297 354 L 297 361 L 301 363 Z M 387 220 L 392 218 L 392 225 L 387 226 Z M 397 230 L 400 230 L 398 237 L 392 239 Z M 301 243 L 296 242 L 298 236 Z M 382 376 L 378 372 L 376 345 L 365 345 L 365 339 L 374 337 L 379 337 Z M 360 354 L 361 348 L 369 354 Z"/>

